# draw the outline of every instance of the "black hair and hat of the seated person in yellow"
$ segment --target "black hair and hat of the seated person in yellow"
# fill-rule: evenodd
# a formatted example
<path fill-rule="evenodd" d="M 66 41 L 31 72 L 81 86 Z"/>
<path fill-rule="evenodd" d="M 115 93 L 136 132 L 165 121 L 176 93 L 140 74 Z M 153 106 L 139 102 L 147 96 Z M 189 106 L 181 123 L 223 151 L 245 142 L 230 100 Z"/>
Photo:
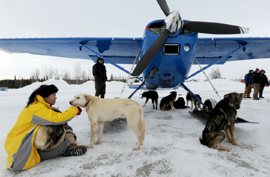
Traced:
<path fill-rule="evenodd" d="M 26 107 L 28 107 L 31 103 L 33 103 L 35 101 L 35 99 L 38 100 L 37 96 L 36 96 L 37 94 L 40 95 L 42 98 L 46 98 L 52 93 L 57 93 L 57 91 L 58 91 L 58 88 L 53 84 L 41 85 L 29 96 Z"/>

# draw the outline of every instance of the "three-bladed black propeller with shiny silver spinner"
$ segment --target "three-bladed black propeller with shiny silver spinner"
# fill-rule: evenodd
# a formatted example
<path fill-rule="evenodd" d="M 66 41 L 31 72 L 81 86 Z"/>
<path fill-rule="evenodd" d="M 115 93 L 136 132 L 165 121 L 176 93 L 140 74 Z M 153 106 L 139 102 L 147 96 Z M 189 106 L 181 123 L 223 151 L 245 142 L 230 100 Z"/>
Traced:
<path fill-rule="evenodd" d="M 164 20 L 163 24 L 164 28 L 166 29 L 144 53 L 144 55 L 138 62 L 137 66 L 134 68 L 134 71 L 131 73 L 131 76 L 129 78 L 130 82 L 135 81 L 136 78 L 139 77 L 140 74 L 151 63 L 151 61 L 155 58 L 158 51 L 165 43 L 169 35 L 176 36 L 183 30 L 205 34 L 248 33 L 248 28 L 241 26 L 228 25 L 223 23 L 212 23 L 212 22 L 196 22 L 196 21 L 183 22 L 182 16 L 177 10 L 170 12 L 166 0 L 157 0 L 157 2 L 166 16 L 166 19 Z"/>

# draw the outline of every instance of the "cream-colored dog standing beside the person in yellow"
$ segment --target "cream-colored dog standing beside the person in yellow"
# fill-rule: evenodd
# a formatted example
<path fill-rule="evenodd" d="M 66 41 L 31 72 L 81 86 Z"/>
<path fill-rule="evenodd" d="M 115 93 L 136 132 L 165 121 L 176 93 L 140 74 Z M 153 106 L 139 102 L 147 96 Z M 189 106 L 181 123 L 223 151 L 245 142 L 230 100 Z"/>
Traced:
<path fill-rule="evenodd" d="M 88 119 L 91 122 L 91 142 L 87 148 L 98 144 L 102 137 L 103 122 L 116 118 L 127 118 L 129 127 L 137 136 L 137 146 L 133 150 L 139 150 L 143 144 L 145 134 L 145 119 L 143 108 L 132 99 L 103 99 L 86 93 L 79 93 L 69 102 L 70 105 L 85 107 Z M 95 129 L 98 123 L 98 140 L 95 141 Z"/>

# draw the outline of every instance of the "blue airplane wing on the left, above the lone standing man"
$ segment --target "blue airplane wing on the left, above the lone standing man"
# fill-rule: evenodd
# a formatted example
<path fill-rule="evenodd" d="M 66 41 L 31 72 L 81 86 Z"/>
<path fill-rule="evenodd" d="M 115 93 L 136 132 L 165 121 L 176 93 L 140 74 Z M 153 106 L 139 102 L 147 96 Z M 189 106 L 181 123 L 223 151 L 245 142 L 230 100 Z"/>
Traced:
<path fill-rule="evenodd" d="M 96 62 L 98 57 L 84 48 L 80 50 L 80 43 L 114 63 L 133 64 L 141 42 L 142 38 L 16 38 L 0 39 L 0 50 L 8 53 L 91 59 Z M 139 60 L 136 61 L 138 63 Z"/>

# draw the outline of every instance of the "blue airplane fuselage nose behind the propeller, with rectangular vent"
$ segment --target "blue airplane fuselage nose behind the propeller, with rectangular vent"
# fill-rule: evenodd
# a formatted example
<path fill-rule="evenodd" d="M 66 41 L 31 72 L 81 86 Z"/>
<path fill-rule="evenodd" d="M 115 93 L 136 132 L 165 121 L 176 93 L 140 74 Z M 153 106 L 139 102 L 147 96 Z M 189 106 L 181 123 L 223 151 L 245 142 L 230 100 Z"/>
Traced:
<path fill-rule="evenodd" d="M 143 56 L 160 36 L 163 22 L 164 20 L 155 20 L 146 26 L 140 56 Z M 143 71 L 146 88 L 167 90 L 183 83 L 193 63 L 197 41 L 198 33 L 194 32 L 169 36 L 155 58 Z"/>

